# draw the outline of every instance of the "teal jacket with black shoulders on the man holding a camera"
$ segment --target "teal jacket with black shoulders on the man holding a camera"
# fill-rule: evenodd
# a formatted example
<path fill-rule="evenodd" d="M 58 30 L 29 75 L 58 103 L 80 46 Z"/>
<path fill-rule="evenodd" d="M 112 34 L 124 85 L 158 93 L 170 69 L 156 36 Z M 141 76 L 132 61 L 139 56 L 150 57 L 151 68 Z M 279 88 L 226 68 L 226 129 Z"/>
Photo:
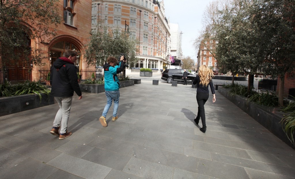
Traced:
<path fill-rule="evenodd" d="M 109 64 L 104 64 L 104 90 L 106 91 L 118 91 L 120 88 L 120 82 L 117 77 L 118 73 L 124 70 L 124 62 L 120 61 L 119 65 L 114 67 Z"/>

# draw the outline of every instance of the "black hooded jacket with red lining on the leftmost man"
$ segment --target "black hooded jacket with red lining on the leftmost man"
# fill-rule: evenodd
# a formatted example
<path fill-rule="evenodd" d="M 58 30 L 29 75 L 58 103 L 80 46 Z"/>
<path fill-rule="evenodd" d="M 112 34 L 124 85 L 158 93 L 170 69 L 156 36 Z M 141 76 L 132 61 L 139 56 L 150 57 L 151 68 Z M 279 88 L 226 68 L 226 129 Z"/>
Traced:
<path fill-rule="evenodd" d="M 76 66 L 66 57 L 60 57 L 51 67 L 51 95 L 55 97 L 71 97 L 74 91 L 82 95 L 78 84 Z"/>

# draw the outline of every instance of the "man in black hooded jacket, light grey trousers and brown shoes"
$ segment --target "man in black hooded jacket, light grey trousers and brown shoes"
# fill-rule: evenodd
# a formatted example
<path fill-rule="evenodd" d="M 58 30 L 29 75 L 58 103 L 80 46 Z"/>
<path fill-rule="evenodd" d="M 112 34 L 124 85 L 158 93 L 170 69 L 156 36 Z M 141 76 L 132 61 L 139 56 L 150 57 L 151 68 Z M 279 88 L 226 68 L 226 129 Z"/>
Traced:
<path fill-rule="evenodd" d="M 76 66 L 77 52 L 68 50 L 65 57 L 58 58 L 53 62 L 50 73 L 51 95 L 58 102 L 59 110 L 53 121 L 53 128 L 50 133 L 65 139 L 72 135 L 68 132 L 68 120 L 73 100 L 74 91 L 82 99 L 82 92 L 78 84 Z M 61 126 L 60 126 L 61 125 Z M 61 127 L 61 128 L 60 128 Z M 60 128 L 60 134 L 58 129 Z"/>

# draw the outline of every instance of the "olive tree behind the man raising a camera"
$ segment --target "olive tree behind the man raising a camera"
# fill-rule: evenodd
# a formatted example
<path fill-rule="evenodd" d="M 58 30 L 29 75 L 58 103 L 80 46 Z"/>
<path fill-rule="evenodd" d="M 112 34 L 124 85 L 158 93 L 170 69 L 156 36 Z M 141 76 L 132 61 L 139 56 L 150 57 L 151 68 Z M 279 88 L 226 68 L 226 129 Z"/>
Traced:
<path fill-rule="evenodd" d="M 86 44 L 84 57 L 89 66 L 103 66 L 109 56 L 119 57 L 120 53 L 128 56 L 127 63 L 134 66 L 139 53 L 139 40 L 131 38 L 129 32 L 99 22 L 97 30 L 91 32 Z"/>

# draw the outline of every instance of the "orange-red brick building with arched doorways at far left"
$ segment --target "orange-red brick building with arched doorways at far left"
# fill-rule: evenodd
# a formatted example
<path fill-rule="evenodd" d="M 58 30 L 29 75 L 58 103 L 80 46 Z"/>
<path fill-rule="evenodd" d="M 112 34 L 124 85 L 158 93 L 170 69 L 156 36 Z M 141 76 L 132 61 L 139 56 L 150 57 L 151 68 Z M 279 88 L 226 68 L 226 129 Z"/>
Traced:
<path fill-rule="evenodd" d="M 66 50 L 75 49 L 83 54 L 85 51 L 84 44 L 87 43 L 91 31 L 91 1 L 60 0 L 58 12 L 62 17 L 62 22 L 57 27 L 57 35 L 36 40 L 37 48 L 42 49 L 42 52 L 47 54 L 48 58 L 42 60 L 45 66 L 33 64 L 31 66 L 9 66 L 6 77 L 8 81 L 37 81 L 40 79 L 40 68 L 49 69 L 51 64 L 57 58 L 63 56 Z M 26 22 L 24 24 L 32 29 L 30 24 L 26 24 Z M 52 25 L 52 29 L 54 27 Z M 33 41 L 30 40 L 29 46 L 33 47 L 34 45 Z M 21 64 L 21 59 L 18 64 Z M 86 64 L 83 63 L 83 55 L 77 57 L 76 66 L 79 69 L 86 68 Z M 32 71 L 29 72 L 31 68 Z"/>

